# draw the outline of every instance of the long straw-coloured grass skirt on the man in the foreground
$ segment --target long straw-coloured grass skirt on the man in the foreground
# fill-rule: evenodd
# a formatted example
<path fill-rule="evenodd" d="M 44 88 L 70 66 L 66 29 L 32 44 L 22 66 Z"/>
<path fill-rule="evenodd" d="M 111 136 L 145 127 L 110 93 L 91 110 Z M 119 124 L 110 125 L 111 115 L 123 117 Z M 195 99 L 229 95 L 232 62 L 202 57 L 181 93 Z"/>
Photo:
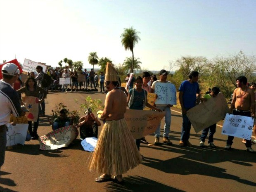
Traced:
<path fill-rule="evenodd" d="M 140 163 L 140 153 L 126 121 L 106 121 L 90 159 L 89 170 L 108 175 L 121 175 Z"/>

